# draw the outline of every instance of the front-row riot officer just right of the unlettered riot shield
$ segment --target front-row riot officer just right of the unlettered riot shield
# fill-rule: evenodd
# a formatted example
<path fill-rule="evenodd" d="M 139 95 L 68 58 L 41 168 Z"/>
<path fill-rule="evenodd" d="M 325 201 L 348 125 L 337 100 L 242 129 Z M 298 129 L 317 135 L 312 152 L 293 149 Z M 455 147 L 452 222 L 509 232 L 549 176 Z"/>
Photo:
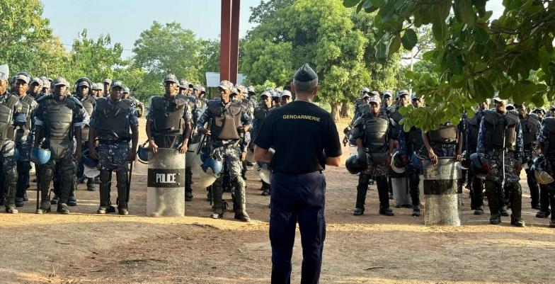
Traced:
<path fill-rule="evenodd" d="M 521 217 L 522 188 L 520 188 L 520 161 L 523 157 L 522 130 L 515 110 L 507 110 L 507 101 L 496 95 L 493 98 L 496 110 L 484 110 L 480 123 L 477 153 L 484 154 L 490 163 L 486 176 L 486 194 L 488 196 L 490 223 L 501 222 L 499 195 L 503 195 L 503 183 L 510 190 L 512 214 L 510 224 L 524 227 Z M 503 171 L 504 170 L 504 171 Z"/>

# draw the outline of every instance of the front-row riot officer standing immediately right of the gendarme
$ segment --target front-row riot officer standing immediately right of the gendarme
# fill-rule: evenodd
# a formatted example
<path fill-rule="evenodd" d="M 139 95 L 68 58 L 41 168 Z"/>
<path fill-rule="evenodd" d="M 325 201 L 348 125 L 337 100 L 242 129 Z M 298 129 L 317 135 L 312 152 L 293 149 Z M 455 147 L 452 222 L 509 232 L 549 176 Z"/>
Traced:
<path fill-rule="evenodd" d="M 393 216 L 389 208 L 389 186 L 387 172 L 391 163 L 389 144 L 391 139 L 393 120 L 386 113 L 380 112 L 381 99 L 379 94 L 370 97 L 370 104 L 359 106 L 360 118 L 355 121 L 353 138 L 357 143 L 358 159 L 362 165 L 368 165 L 358 177 L 357 203 L 353 215 L 362 215 L 365 211 L 368 181 L 374 176 L 379 195 L 379 214 Z"/>

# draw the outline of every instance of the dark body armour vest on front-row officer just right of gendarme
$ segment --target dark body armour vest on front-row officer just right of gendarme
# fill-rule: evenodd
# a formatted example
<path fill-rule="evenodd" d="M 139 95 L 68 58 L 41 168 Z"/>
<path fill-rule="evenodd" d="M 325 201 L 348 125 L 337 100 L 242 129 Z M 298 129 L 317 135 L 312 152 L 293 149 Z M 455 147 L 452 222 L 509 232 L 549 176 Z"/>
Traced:
<path fill-rule="evenodd" d="M 389 120 L 376 118 L 371 114 L 362 119 L 365 130 L 364 146 L 369 149 L 374 164 L 382 164 L 387 157 Z"/>

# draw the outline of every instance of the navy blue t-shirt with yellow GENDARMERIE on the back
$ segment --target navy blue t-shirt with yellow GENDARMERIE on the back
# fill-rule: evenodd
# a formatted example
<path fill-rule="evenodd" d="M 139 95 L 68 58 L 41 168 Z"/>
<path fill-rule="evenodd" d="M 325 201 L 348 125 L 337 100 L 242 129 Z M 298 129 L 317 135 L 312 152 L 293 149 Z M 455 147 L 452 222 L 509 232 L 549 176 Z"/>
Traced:
<path fill-rule="evenodd" d="M 306 101 L 271 110 L 255 144 L 275 149 L 270 167 L 288 174 L 321 171 L 326 157 L 341 156 L 339 134 L 330 113 Z"/>

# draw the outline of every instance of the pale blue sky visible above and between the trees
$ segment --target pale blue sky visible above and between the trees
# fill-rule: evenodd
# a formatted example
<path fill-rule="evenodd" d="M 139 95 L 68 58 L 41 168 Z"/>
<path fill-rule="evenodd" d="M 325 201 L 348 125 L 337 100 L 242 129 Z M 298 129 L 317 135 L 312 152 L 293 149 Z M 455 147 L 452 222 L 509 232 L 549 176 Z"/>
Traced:
<path fill-rule="evenodd" d="M 241 0 L 241 37 L 253 28 L 248 23 L 250 7 L 260 2 Z M 50 19 L 50 27 L 67 48 L 86 28 L 89 38 L 110 34 L 112 42 L 122 44 L 123 57 L 132 56 L 135 40 L 153 21 L 176 21 L 200 38 L 218 38 L 220 3 L 221 0 L 42 0 L 43 16 Z M 502 0 L 487 2 L 487 9 L 493 11 L 492 18 L 503 12 L 501 3 Z"/>

